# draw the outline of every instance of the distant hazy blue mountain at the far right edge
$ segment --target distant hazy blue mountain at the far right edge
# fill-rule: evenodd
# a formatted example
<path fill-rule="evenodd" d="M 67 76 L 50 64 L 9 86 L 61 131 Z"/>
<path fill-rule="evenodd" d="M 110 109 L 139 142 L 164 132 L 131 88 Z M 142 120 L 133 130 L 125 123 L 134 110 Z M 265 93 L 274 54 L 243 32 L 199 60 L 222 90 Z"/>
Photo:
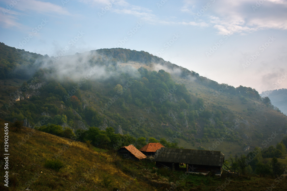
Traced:
<path fill-rule="evenodd" d="M 269 97 L 272 104 L 278 107 L 282 113 L 287 114 L 287 89 L 265 91 L 260 94 L 261 97 Z"/>

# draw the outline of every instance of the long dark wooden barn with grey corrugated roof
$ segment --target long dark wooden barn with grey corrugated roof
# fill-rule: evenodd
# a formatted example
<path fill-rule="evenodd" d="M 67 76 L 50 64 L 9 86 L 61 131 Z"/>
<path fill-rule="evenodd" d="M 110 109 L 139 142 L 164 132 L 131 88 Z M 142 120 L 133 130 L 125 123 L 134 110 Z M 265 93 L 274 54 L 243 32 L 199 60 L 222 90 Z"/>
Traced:
<path fill-rule="evenodd" d="M 224 154 L 220 151 L 176 149 L 163 147 L 156 151 L 156 166 L 179 170 L 179 164 L 186 164 L 186 171 L 192 173 L 221 174 Z"/>

